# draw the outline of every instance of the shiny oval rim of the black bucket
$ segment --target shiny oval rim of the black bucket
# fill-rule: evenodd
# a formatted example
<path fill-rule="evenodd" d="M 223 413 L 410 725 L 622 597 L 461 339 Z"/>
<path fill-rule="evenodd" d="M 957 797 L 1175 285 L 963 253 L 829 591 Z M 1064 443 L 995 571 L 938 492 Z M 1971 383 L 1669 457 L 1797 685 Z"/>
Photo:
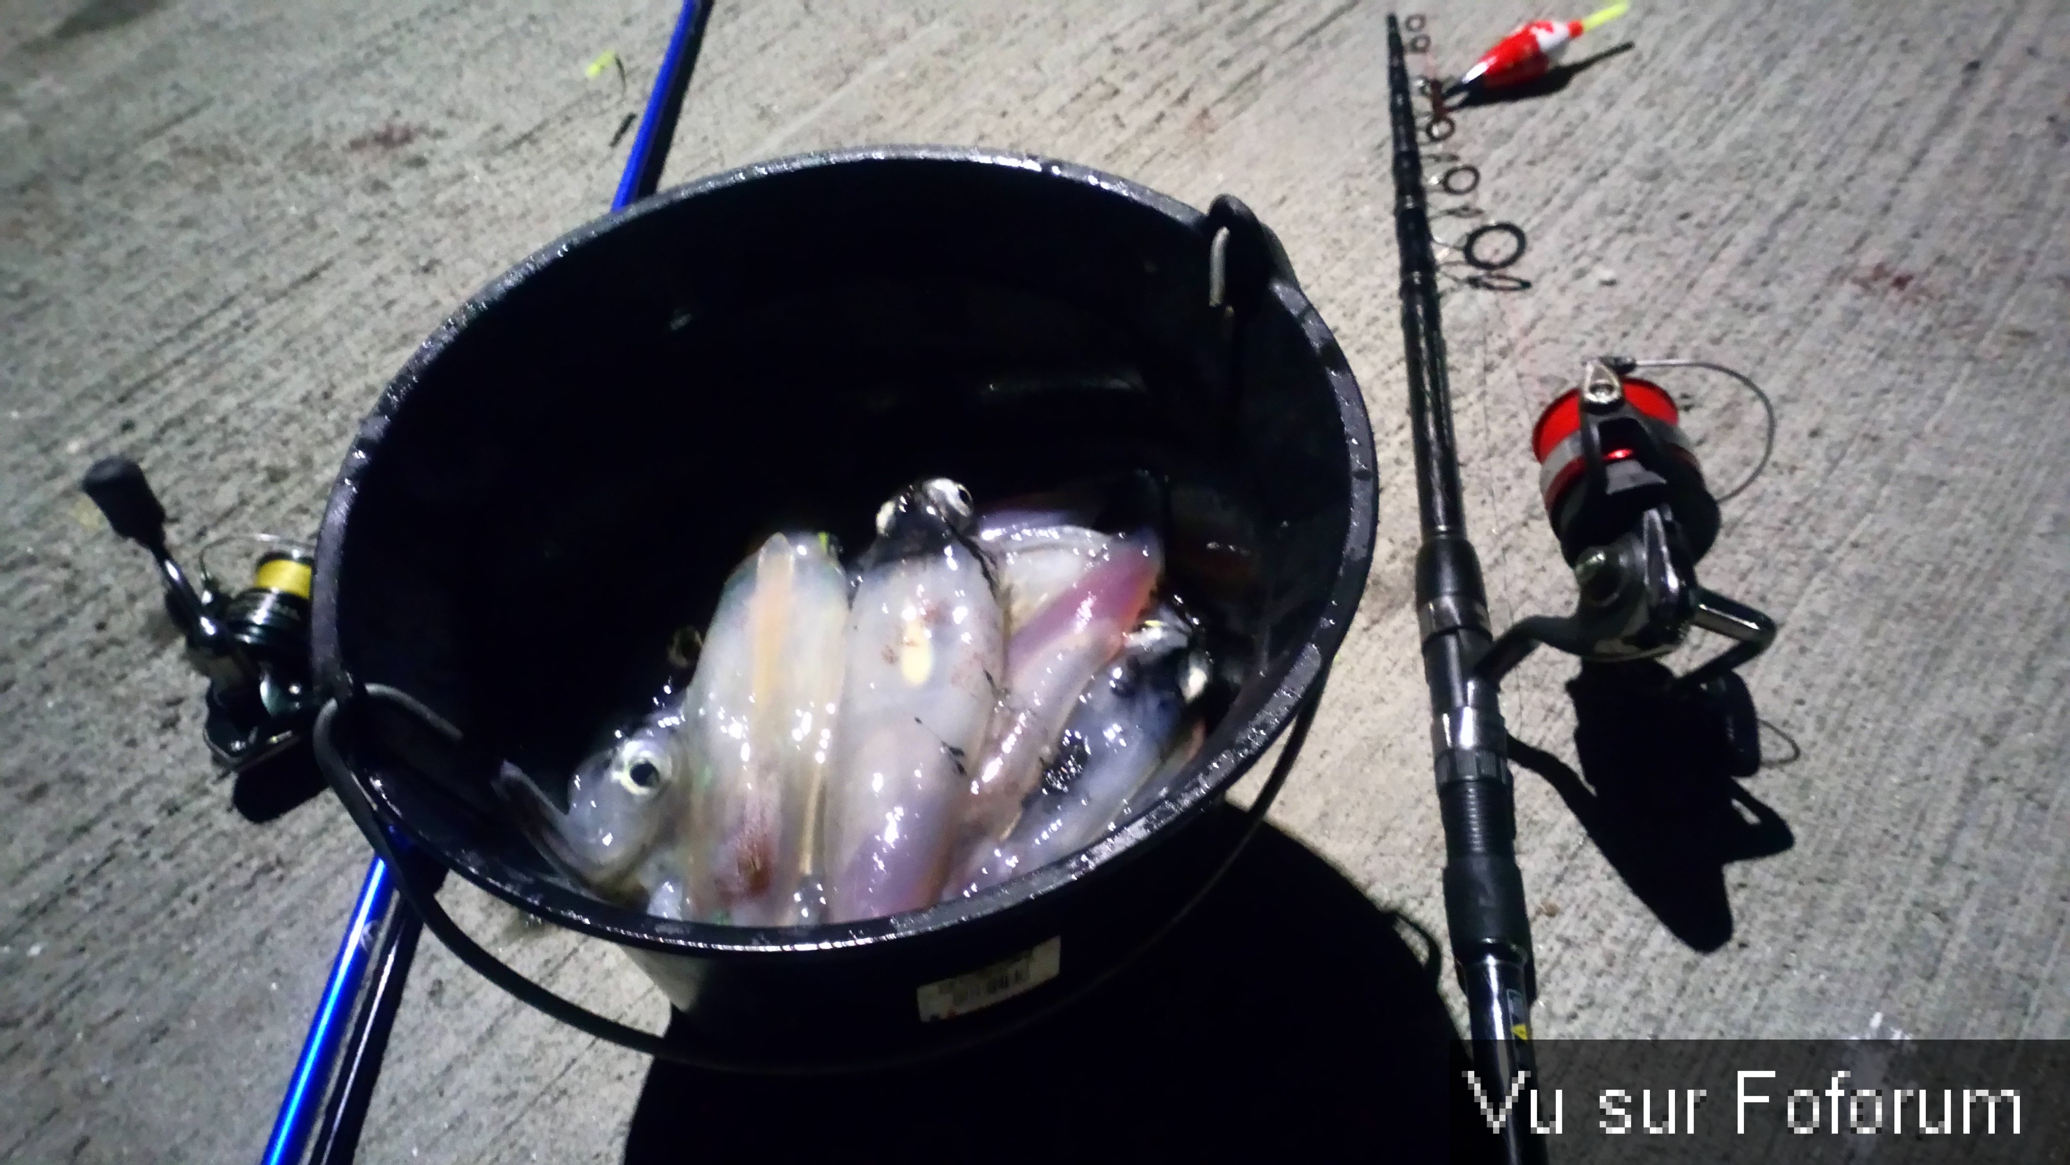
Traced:
<path fill-rule="evenodd" d="M 331 486 L 323 524 L 317 538 L 317 571 L 313 588 L 313 633 L 317 681 L 333 699 L 344 699 L 354 691 L 354 679 L 344 666 L 337 594 L 344 565 L 344 536 L 358 499 L 366 468 L 373 464 L 373 449 L 381 445 L 391 420 L 404 408 L 422 377 L 437 364 L 455 337 L 497 302 L 509 296 L 520 283 L 563 261 L 575 248 L 604 236 L 623 223 L 667 213 L 679 203 L 710 197 L 751 182 L 782 180 L 787 176 L 822 172 L 849 166 L 911 166 L 911 163 L 971 163 L 1029 172 L 1039 180 L 1064 182 L 1070 186 L 1095 188 L 1143 209 L 1155 211 L 1176 226 L 1201 234 L 1203 246 L 1211 242 L 1209 215 L 1151 190 L 1128 178 L 1120 178 L 1087 166 L 1058 161 L 1052 157 L 989 149 L 989 147 L 948 147 L 948 145 L 876 145 L 799 153 L 768 161 L 739 166 L 735 170 L 706 176 L 681 186 L 658 190 L 648 199 L 631 203 L 590 219 L 532 255 L 511 265 L 505 273 L 474 292 L 460 308 L 447 315 L 431 335 L 412 352 L 410 360 L 383 387 L 373 410 L 354 432 L 344 466 Z M 1259 228 L 1263 230 L 1263 228 Z M 838 954 L 863 948 L 880 948 L 890 942 L 942 935 L 965 923 L 979 919 L 1000 919 L 1016 910 L 1054 902 L 1060 892 L 1074 884 L 1085 884 L 1091 875 L 1118 865 L 1138 850 L 1138 842 L 1155 832 L 1176 828 L 1180 819 L 1194 815 L 1236 780 L 1240 780 L 1288 724 L 1298 716 L 1300 706 L 1319 697 L 1314 687 L 1325 679 L 1327 662 L 1335 656 L 1352 615 L 1364 592 L 1372 565 L 1372 538 L 1377 526 L 1377 466 L 1372 424 L 1366 416 L 1364 397 L 1352 377 L 1341 348 L 1308 302 L 1306 294 L 1292 279 L 1292 273 L 1277 273 L 1267 279 L 1263 302 L 1285 312 L 1300 329 L 1308 350 L 1317 356 L 1329 391 L 1337 406 L 1337 422 L 1343 439 L 1348 470 L 1348 521 L 1339 548 L 1337 573 L 1331 579 L 1327 598 L 1308 629 L 1298 652 L 1290 652 L 1267 664 L 1250 683 L 1269 685 L 1269 695 L 1259 710 L 1240 724 L 1215 753 L 1194 757 L 1186 768 L 1186 778 L 1161 801 L 1141 813 L 1128 826 L 1107 834 L 1093 846 L 1054 861 L 1033 871 L 1021 873 L 969 898 L 936 902 L 919 910 L 907 910 L 884 919 L 861 919 L 855 923 L 820 923 L 814 927 L 733 927 L 718 923 L 689 923 L 648 915 L 635 906 L 604 902 L 588 892 L 551 882 L 528 871 L 493 863 L 480 848 L 468 844 L 451 830 L 426 830 L 418 822 L 406 819 L 385 788 L 387 772 L 350 770 L 350 780 L 375 809 L 385 828 L 406 836 L 414 848 L 433 855 L 441 865 L 453 869 L 489 894 L 524 908 L 542 921 L 571 931 L 600 937 L 619 946 L 652 950 L 681 956 L 768 956 L 768 954 Z M 1211 737 L 1213 739 L 1213 737 Z"/>

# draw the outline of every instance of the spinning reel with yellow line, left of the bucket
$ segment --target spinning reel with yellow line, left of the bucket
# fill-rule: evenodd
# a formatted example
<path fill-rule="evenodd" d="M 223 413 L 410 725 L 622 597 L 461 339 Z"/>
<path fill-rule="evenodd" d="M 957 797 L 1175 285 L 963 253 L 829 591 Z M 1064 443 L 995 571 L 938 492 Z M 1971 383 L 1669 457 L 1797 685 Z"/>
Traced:
<path fill-rule="evenodd" d="M 209 575 L 209 546 L 188 575 L 166 550 L 166 509 L 137 461 L 103 457 L 81 482 L 116 534 L 137 542 L 157 563 L 166 613 L 186 637 L 186 660 L 209 681 L 203 737 L 215 764 L 244 772 L 304 741 L 323 704 L 308 677 L 308 590 L 315 555 L 308 546 L 253 536 L 267 548 L 253 581 L 236 594 Z"/>

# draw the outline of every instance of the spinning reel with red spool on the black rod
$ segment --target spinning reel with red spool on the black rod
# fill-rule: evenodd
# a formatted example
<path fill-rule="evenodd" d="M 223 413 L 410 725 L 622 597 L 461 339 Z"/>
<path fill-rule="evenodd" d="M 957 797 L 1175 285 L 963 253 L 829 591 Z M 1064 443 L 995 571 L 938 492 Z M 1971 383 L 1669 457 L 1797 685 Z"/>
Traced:
<path fill-rule="evenodd" d="M 1540 644 L 1615 664 L 1664 656 L 1689 627 L 1733 639 L 1722 654 L 1675 679 L 1675 691 L 1691 693 L 1759 656 L 1776 637 L 1766 615 L 1695 579 L 1695 563 L 1718 538 L 1718 499 L 1679 428 L 1675 399 L 1631 375 L 1660 366 L 1702 366 L 1747 383 L 1716 364 L 1604 356 L 1590 360 L 1581 387 L 1544 410 L 1532 428 L 1532 451 L 1579 598 L 1573 615 L 1534 615 L 1503 631 L 1474 662 L 1480 679 L 1501 683 Z"/>

